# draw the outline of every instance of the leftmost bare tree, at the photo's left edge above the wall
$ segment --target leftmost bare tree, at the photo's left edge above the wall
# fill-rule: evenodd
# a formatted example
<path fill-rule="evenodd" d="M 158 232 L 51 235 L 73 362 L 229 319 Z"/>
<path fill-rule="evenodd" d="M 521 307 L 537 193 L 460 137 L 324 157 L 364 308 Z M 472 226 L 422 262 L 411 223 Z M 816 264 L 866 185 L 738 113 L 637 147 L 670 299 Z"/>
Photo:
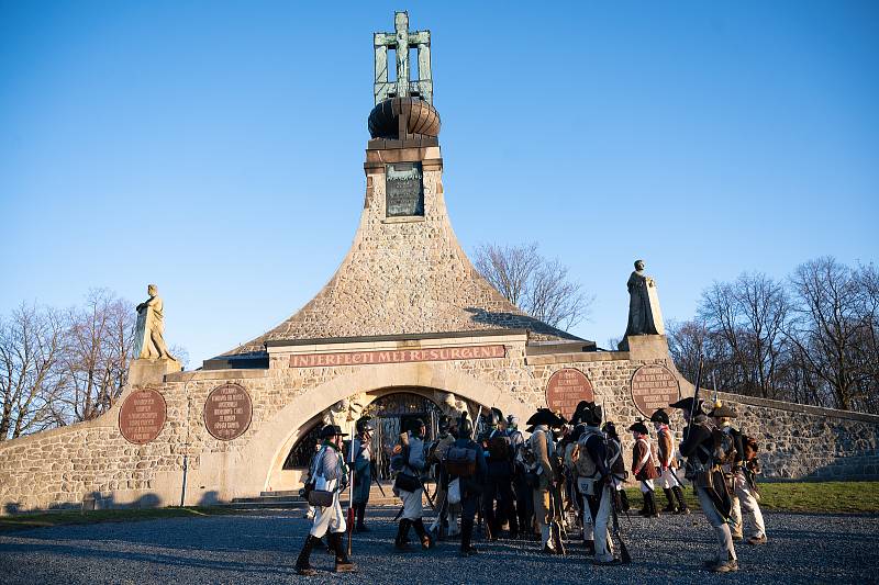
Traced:
<path fill-rule="evenodd" d="M 64 329 L 49 308 L 22 304 L 0 320 L 0 441 L 57 424 Z"/>

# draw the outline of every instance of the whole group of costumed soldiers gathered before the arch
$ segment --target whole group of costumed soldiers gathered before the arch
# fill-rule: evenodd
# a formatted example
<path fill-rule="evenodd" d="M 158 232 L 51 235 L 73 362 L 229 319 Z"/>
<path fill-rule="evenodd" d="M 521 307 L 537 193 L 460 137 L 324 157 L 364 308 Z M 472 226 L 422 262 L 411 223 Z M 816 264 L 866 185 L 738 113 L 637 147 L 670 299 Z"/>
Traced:
<path fill-rule="evenodd" d="M 755 476 L 759 473 L 756 441 L 734 425 L 736 413 L 721 403 L 683 398 L 669 409 L 682 412 L 688 426 L 678 452 L 686 458 L 686 480 L 713 527 L 717 550 L 705 567 L 725 573 L 738 570 L 735 540 L 743 540 L 743 511 L 754 519 L 749 544 L 766 542 Z M 480 410 L 481 414 L 481 410 Z M 416 547 L 433 549 L 437 541 L 459 539 L 460 554 L 477 554 L 475 528 L 481 527 L 485 540 L 499 538 L 533 539 L 547 554 L 565 554 L 565 542 L 581 529 L 583 547 L 597 565 L 631 561 L 620 530 L 619 516 L 627 515 L 624 484 L 638 482 L 641 516 L 659 516 L 655 491 L 663 490 L 666 514 L 690 514 L 685 499 L 685 479 L 676 454 L 675 434 L 667 409 L 658 409 L 649 420 L 628 427 L 632 432 L 632 463 L 626 469 L 622 440 L 615 425 L 603 420 L 601 406 L 581 402 L 570 420 L 548 408 L 539 408 L 526 423 L 503 417 L 497 408 L 476 420 L 464 412 L 444 416 L 438 435 L 426 438 L 424 421 L 414 420 L 400 435 L 390 461 L 394 472 L 393 493 L 402 500 L 394 549 L 411 549 L 410 532 Z M 650 439 L 652 424 L 656 443 Z M 345 435 L 336 426 L 324 427 L 322 443 L 312 461 L 307 482 L 309 500 L 314 505 L 313 525 L 297 561 L 300 574 L 311 575 L 312 549 L 329 535 L 326 547 L 335 553 L 336 571 L 355 571 L 351 561 L 351 531 L 368 531 L 365 509 L 372 483 L 372 426 L 368 418 L 356 424 L 357 435 L 344 455 Z M 351 473 L 351 472 L 354 473 Z M 342 492 L 351 477 L 348 520 L 343 511 Z M 427 494 L 435 517 L 424 524 L 423 496 Z M 348 549 L 343 538 L 348 527 Z M 615 539 L 615 542 L 614 542 Z"/>

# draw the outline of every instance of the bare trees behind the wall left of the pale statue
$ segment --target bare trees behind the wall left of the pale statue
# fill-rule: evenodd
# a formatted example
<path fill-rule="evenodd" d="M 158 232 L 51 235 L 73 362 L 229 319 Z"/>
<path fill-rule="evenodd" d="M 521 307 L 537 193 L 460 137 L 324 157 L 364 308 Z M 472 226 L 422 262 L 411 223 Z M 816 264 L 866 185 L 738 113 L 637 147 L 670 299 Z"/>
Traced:
<path fill-rule="evenodd" d="M 0 316 L 0 441 L 109 410 L 126 382 L 135 320 L 134 304 L 107 289 L 70 308 L 22 303 Z M 186 351 L 174 351 L 185 363 Z"/>

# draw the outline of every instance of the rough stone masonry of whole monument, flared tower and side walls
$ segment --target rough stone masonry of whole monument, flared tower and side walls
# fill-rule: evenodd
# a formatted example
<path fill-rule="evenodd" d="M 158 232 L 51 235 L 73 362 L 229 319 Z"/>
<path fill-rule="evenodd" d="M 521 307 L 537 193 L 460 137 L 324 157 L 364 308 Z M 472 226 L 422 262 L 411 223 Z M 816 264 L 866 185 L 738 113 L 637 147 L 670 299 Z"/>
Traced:
<path fill-rule="evenodd" d="M 398 29 L 401 22 L 398 14 Z M 430 33 L 413 37 L 430 58 Z M 432 95 L 432 80 L 421 81 L 409 86 L 420 91 L 381 87 L 369 115 L 359 226 L 314 299 L 199 370 L 134 360 L 107 414 L 0 443 L 2 514 L 203 505 L 296 490 L 302 470 L 283 462 L 299 439 L 331 408 L 344 418 L 349 403 L 363 408 L 394 392 L 433 401 L 453 394 L 471 414 L 497 406 L 524 419 L 547 404 L 553 375 L 569 370 L 563 378 L 578 390 L 564 390 L 560 404 L 592 397 L 621 428 L 649 416 L 637 404 L 692 395 L 664 336 L 630 336 L 624 351 L 599 351 L 525 315 L 479 275 L 448 220 L 439 117 L 420 94 L 430 88 Z M 420 172 L 394 188 L 391 212 L 388 172 L 401 165 Z M 763 445 L 768 477 L 879 476 L 879 416 L 720 396 Z M 672 424 L 682 426 L 679 417 Z"/>

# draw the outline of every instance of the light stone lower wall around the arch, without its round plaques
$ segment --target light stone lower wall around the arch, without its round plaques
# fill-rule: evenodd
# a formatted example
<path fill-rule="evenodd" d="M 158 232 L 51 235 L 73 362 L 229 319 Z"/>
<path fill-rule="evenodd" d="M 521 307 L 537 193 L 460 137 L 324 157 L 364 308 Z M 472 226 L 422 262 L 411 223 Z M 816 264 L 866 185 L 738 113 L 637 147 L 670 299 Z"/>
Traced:
<path fill-rule="evenodd" d="M 0 443 L 0 509 L 80 506 L 91 498 L 104 507 L 176 505 L 185 454 L 188 505 L 255 496 L 272 484 L 277 488 L 278 470 L 300 431 L 346 396 L 367 392 L 375 397 L 393 389 L 443 390 L 526 418 L 545 404 L 549 376 L 563 368 L 577 368 L 589 378 L 596 401 L 621 429 L 628 460 L 631 437 L 623 431 L 642 416 L 632 401 L 633 373 L 645 363 L 663 363 L 674 371 L 667 353 L 661 358 L 657 349 L 664 347 L 661 338 L 653 346 L 633 344 L 630 352 L 549 355 L 530 355 L 524 333 L 420 342 L 503 344 L 507 351 L 503 358 L 482 360 L 290 368 L 285 351 L 302 349 L 276 348 L 264 370 L 169 374 L 155 386 L 165 397 L 168 419 L 151 443 L 132 445 L 120 435 L 122 401 L 97 420 Z M 351 346 L 332 345 L 336 351 Z M 253 402 L 251 426 L 231 441 L 213 438 L 202 420 L 208 394 L 225 382 L 244 386 Z M 692 386 L 681 380 L 681 392 L 692 394 Z M 735 405 L 739 426 L 760 441 L 767 477 L 877 477 L 879 417 L 720 396 Z M 678 430 L 682 426 L 678 414 L 672 426 Z"/>

